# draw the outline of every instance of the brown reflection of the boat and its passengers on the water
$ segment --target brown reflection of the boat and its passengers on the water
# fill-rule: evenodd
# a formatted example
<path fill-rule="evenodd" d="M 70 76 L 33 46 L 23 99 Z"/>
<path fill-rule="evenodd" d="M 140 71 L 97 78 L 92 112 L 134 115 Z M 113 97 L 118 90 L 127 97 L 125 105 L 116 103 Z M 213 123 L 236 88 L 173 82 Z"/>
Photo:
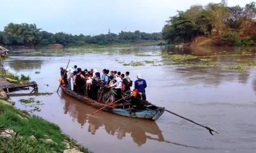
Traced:
<path fill-rule="evenodd" d="M 138 146 L 145 144 L 146 140 L 149 139 L 185 147 L 199 148 L 164 140 L 162 132 L 154 121 L 134 120 L 107 113 L 104 117 L 92 116 L 90 114 L 93 113 L 93 110 L 91 110 L 90 107 L 81 107 L 82 104 L 79 104 L 81 102 L 74 103 L 74 99 L 63 92 L 61 92 L 60 98 L 65 100 L 65 107 L 63 107 L 64 114 L 68 113 L 81 125 L 81 128 L 88 123 L 88 132 L 92 135 L 95 135 L 97 130 L 103 126 L 106 133 L 112 136 L 116 135 L 116 138 L 119 140 L 122 140 L 126 135 L 130 134 L 133 142 Z M 151 135 L 153 135 L 153 137 Z M 154 138 L 154 136 L 157 136 L 157 138 Z"/>

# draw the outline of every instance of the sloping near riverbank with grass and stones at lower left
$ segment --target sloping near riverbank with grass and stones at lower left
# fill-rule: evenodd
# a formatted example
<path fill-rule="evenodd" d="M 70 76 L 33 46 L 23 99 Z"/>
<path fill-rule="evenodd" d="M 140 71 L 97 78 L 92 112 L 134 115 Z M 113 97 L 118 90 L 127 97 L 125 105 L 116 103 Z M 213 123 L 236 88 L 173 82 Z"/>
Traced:
<path fill-rule="evenodd" d="M 91 152 L 62 134 L 58 125 L 18 110 L 7 100 L 0 100 L 0 125 L 0 152 Z"/>

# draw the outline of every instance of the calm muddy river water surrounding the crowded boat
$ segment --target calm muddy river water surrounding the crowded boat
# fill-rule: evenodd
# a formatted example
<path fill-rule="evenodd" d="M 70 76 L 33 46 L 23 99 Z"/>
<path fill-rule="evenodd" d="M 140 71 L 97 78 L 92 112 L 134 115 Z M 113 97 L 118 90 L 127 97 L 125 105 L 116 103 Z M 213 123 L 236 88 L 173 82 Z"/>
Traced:
<path fill-rule="evenodd" d="M 161 60 L 161 56 L 135 56 L 158 48 L 141 47 L 125 53 L 74 55 L 10 55 L 5 67 L 18 74 L 30 74 L 39 85 L 39 92 L 54 92 L 51 96 L 30 96 L 42 101 L 39 115 L 61 127 L 63 133 L 94 152 L 255 152 L 256 150 L 256 68 L 245 71 L 228 70 L 219 66 L 123 66 L 120 61 Z M 147 50 L 147 51 L 145 51 Z M 150 53 L 148 51 L 148 53 Z M 204 52 L 204 51 L 200 51 Z M 203 53 L 212 54 L 212 52 Z M 246 57 L 220 57 L 224 63 L 242 61 Z M 147 100 L 190 118 L 214 130 L 211 136 L 200 126 L 165 112 L 157 121 L 131 119 L 106 112 L 89 115 L 97 109 L 65 95 L 59 90 L 59 67 L 78 65 L 82 69 L 104 68 L 124 73 L 132 80 L 137 73 L 147 81 Z M 35 71 L 40 71 L 35 74 Z M 47 84 L 49 86 L 47 86 Z M 18 102 L 20 93 L 11 97 L 16 107 L 27 109 Z M 15 95 L 16 94 L 16 95 Z"/>

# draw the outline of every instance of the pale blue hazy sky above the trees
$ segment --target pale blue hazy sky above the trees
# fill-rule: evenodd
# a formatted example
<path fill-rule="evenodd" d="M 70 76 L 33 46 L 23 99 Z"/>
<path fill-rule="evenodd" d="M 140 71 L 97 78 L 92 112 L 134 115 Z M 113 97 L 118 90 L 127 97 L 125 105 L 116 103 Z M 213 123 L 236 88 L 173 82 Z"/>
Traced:
<path fill-rule="evenodd" d="M 228 0 L 228 6 L 252 1 Z M 10 22 L 26 22 L 52 33 L 160 32 L 176 10 L 210 2 L 221 0 L 0 0 L 0 30 Z"/>

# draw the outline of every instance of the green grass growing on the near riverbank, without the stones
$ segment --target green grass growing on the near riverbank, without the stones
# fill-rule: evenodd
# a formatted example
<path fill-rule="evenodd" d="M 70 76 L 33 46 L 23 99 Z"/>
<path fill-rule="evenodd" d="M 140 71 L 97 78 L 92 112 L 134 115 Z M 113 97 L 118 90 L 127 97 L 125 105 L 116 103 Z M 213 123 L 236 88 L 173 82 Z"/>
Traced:
<path fill-rule="evenodd" d="M 0 139 L 0 152 L 63 152 L 64 140 L 68 140 L 72 146 L 77 146 L 82 152 L 90 152 L 88 149 L 77 145 L 66 135 L 62 134 L 58 125 L 48 122 L 37 116 L 31 116 L 24 120 L 17 116 L 27 117 L 12 106 L 0 104 L 0 125 L 5 129 L 12 129 L 18 136 L 12 139 Z M 34 136 L 37 141 L 29 139 Z M 47 136 L 46 136 L 47 135 Z M 40 139 L 52 139 L 57 144 L 49 144 Z"/>

